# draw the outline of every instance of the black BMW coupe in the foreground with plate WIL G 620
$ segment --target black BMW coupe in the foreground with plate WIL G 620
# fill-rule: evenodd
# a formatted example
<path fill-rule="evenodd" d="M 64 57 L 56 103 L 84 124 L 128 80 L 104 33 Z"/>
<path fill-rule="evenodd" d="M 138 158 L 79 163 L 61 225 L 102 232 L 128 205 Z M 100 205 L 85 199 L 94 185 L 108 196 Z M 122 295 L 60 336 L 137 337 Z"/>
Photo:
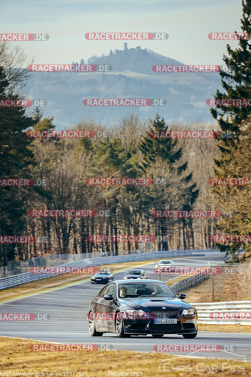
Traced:
<path fill-rule="evenodd" d="M 119 338 L 178 334 L 186 339 L 198 333 L 196 308 L 159 280 L 117 280 L 107 284 L 91 301 L 88 327 L 91 336 L 114 333 Z"/>

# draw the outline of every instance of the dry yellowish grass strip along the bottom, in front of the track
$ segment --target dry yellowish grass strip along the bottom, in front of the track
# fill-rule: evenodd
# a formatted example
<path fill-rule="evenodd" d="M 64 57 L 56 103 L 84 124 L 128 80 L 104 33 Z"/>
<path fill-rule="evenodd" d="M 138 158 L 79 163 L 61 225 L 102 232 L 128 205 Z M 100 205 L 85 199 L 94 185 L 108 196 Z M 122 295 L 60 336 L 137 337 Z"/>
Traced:
<path fill-rule="evenodd" d="M 100 341 L 100 340 L 99 340 Z M 206 375 L 215 375 L 215 372 L 209 372 L 209 368 L 212 366 L 217 369 L 218 377 L 232 377 L 236 375 L 250 376 L 251 374 L 251 363 L 245 363 L 244 361 L 233 361 L 233 360 L 223 360 L 223 359 L 204 359 L 200 358 L 203 355 L 199 355 L 198 359 L 179 357 L 173 359 L 167 353 L 142 353 L 133 351 L 95 351 L 95 352 L 85 352 L 85 351 L 67 351 L 67 352 L 34 352 L 30 351 L 30 344 L 36 343 L 31 340 L 22 340 L 18 338 L 5 338 L 0 337 L 0 366 L 2 372 L 12 372 L 15 373 L 45 373 L 45 372 L 87 372 L 88 377 L 105 377 L 111 375 L 111 372 L 140 372 L 138 375 L 143 377 L 159 377 L 159 376 L 169 376 L 169 377 L 180 377 L 180 376 L 191 376 L 191 377 L 202 377 Z M 93 341 L 92 343 L 95 343 Z M 157 344 L 157 339 L 156 339 Z M 171 358 L 171 360 L 166 360 Z M 171 363 L 172 365 L 166 365 L 166 369 L 177 369 L 180 368 L 192 368 L 192 371 L 177 371 L 174 369 L 173 372 L 163 371 L 159 369 L 160 362 L 166 360 L 166 363 Z M 198 365 L 198 369 L 207 368 L 207 372 L 201 372 L 196 370 L 196 363 L 204 363 L 204 365 Z M 222 363 L 229 363 L 223 364 Z M 244 368 L 241 372 L 232 372 L 231 367 L 233 365 Z M 182 367 L 183 366 L 183 367 Z M 227 368 L 226 370 L 222 368 Z M 142 373 L 142 374 L 141 374 Z M 10 374 L 10 376 L 11 376 Z M 70 374 L 68 374 L 70 375 Z M 76 374 L 75 374 L 76 375 Z M 81 374 L 82 375 L 82 374 Z M 113 374 L 119 375 L 119 374 Z"/>

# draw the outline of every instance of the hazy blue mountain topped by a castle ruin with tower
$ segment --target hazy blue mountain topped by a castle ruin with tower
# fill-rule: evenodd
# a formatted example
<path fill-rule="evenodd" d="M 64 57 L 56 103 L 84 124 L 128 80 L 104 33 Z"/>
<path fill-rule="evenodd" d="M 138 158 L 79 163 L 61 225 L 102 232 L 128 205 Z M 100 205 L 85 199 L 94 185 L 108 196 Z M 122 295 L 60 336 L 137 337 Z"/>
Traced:
<path fill-rule="evenodd" d="M 30 97 L 47 101 L 44 116 L 54 116 L 57 129 L 70 127 L 82 118 L 107 125 L 117 124 L 131 113 L 144 120 L 154 118 L 158 112 L 168 122 L 212 121 L 206 101 L 214 98 L 221 87 L 218 73 L 156 73 L 152 71 L 154 65 L 183 63 L 140 46 L 128 49 L 126 43 L 123 50 L 92 56 L 88 63 L 110 64 L 112 70 L 107 73 L 37 72 L 30 80 Z M 80 64 L 85 64 L 83 59 Z M 167 104 L 85 106 L 85 98 L 162 98 Z"/>

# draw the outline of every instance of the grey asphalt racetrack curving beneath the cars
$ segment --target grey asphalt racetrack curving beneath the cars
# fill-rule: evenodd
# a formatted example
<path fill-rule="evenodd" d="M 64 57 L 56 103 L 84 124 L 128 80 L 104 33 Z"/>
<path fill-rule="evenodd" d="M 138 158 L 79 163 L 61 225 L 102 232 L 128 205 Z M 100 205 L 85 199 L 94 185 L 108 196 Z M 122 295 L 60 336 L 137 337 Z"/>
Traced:
<path fill-rule="evenodd" d="M 222 264 L 224 257 L 184 257 L 176 259 L 177 265 Z M 203 261 L 203 263 L 202 263 Z M 138 267 L 140 267 L 138 262 Z M 148 279 L 158 280 L 154 274 L 154 264 L 145 265 Z M 123 279 L 124 272 L 114 274 L 114 280 Z M 170 276 L 169 279 L 172 279 Z M 194 352 L 193 357 L 233 358 L 251 361 L 251 336 L 248 333 L 217 333 L 199 331 L 195 339 L 184 339 L 178 335 L 165 335 L 161 339 L 148 336 L 131 336 L 119 339 L 115 334 L 103 334 L 102 337 L 91 337 L 88 332 L 88 313 L 91 299 L 102 289 L 103 285 L 91 284 L 90 281 L 67 288 L 58 288 L 47 293 L 34 294 L 29 297 L 12 300 L 0 304 L 0 313 L 49 313 L 49 320 L 41 321 L 0 321 L 0 335 L 21 337 L 36 341 L 56 342 L 65 344 L 108 344 L 113 349 L 152 352 L 154 345 L 235 345 L 236 351 Z M 186 299 L 185 299 L 186 301 Z M 205 297 L 204 302 L 207 302 Z M 229 348 L 225 348 L 229 349 Z M 188 356 L 187 352 L 168 352 L 176 356 Z"/>

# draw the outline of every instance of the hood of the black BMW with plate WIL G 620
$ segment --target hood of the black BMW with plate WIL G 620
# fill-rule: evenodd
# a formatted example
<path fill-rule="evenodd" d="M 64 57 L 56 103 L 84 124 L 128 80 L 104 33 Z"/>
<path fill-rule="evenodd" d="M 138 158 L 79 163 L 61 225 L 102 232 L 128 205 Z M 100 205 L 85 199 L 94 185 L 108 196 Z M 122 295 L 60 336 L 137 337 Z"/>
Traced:
<path fill-rule="evenodd" d="M 164 297 L 143 297 L 140 299 L 138 297 L 135 299 L 120 299 L 120 303 L 130 306 L 132 309 L 144 311 L 161 310 L 162 307 L 176 310 L 184 310 L 192 307 L 192 305 L 176 297 L 168 299 Z"/>

